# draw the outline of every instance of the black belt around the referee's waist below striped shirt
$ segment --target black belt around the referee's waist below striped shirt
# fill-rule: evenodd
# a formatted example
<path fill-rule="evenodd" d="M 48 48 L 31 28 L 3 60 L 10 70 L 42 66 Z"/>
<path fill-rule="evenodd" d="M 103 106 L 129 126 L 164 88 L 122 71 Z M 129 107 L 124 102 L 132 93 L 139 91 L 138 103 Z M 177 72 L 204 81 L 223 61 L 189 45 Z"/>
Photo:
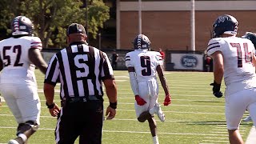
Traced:
<path fill-rule="evenodd" d="M 66 102 L 90 102 L 90 101 L 103 101 L 102 96 L 99 95 L 89 95 L 85 97 L 69 97 L 66 98 Z"/>

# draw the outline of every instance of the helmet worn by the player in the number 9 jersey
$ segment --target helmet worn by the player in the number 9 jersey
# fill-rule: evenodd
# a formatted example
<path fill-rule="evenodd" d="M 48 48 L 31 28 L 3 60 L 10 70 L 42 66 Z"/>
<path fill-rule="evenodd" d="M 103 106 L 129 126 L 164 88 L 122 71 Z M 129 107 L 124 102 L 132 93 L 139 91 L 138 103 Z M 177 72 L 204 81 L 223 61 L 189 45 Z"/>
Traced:
<path fill-rule="evenodd" d="M 150 50 L 150 39 L 144 34 L 138 34 L 134 39 L 134 50 Z"/>

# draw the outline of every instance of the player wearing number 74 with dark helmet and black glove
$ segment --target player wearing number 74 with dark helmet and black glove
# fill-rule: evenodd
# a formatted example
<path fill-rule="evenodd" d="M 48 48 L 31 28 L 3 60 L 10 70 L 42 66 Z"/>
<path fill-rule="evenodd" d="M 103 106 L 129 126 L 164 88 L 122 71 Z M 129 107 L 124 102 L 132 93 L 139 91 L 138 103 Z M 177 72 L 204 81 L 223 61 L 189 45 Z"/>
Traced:
<path fill-rule="evenodd" d="M 213 25 L 213 37 L 207 54 L 214 60 L 213 94 L 222 97 L 220 90 L 224 77 L 226 126 L 230 143 L 243 143 L 238 130 L 246 110 L 256 124 L 256 57 L 254 44 L 246 38 L 238 38 L 238 21 L 231 15 L 219 16 Z"/>

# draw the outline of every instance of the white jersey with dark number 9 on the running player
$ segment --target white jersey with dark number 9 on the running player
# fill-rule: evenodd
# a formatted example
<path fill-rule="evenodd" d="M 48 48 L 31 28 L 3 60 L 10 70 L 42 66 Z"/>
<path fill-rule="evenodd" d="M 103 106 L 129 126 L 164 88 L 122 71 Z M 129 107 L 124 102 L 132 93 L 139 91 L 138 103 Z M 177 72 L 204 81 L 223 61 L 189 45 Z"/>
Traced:
<path fill-rule="evenodd" d="M 134 67 L 138 82 L 156 78 L 158 65 L 162 65 L 162 57 L 157 51 L 134 50 L 126 54 L 126 67 Z"/>

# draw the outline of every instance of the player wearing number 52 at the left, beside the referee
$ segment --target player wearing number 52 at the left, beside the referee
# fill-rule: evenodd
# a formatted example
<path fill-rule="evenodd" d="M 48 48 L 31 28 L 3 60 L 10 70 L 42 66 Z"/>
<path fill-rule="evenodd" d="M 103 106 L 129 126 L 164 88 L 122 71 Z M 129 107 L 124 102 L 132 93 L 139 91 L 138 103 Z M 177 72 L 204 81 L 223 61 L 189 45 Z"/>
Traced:
<path fill-rule="evenodd" d="M 17 138 L 9 144 L 26 143 L 39 126 L 41 103 L 34 74 L 35 66 L 46 74 L 42 42 L 33 36 L 29 18 L 18 16 L 11 22 L 12 37 L 0 42 L 0 87 L 2 97 L 18 122 Z"/>

